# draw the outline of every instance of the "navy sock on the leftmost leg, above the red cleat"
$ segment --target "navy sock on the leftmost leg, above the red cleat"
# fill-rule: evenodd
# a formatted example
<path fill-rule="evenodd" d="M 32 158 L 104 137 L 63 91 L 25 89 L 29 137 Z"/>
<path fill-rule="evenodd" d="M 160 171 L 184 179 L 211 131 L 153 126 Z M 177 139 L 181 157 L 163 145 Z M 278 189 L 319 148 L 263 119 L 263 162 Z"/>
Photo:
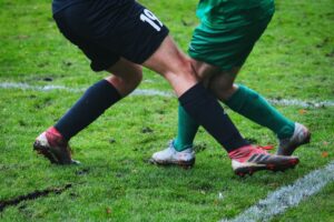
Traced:
<path fill-rule="evenodd" d="M 120 99 L 116 88 L 107 80 L 101 80 L 85 92 L 55 128 L 69 141 Z"/>

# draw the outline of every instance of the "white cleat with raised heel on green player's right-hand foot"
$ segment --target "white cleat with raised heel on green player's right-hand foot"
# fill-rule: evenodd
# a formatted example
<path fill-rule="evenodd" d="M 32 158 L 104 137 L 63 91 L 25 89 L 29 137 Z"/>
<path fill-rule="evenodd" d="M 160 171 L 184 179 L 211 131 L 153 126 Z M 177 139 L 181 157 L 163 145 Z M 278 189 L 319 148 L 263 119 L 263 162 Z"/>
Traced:
<path fill-rule="evenodd" d="M 295 123 L 295 131 L 291 138 L 281 139 L 277 155 L 292 155 L 293 152 L 303 144 L 310 143 L 311 132 L 308 129 L 301 124 Z"/>

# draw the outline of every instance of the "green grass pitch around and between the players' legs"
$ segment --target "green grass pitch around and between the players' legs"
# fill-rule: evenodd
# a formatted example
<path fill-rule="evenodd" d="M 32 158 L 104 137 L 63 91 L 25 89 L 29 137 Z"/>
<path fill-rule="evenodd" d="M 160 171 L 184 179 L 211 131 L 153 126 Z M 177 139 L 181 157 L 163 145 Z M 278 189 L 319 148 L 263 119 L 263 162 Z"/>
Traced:
<path fill-rule="evenodd" d="M 140 1 L 169 27 L 186 50 L 197 24 L 196 0 Z M 269 99 L 334 100 L 334 1 L 277 0 L 276 14 L 247 60 L 239 83 Z M 0 0 L 0 83 L 88 88 L 96 74 L 65 40 L 48 0 Z M 32 152 L 35 138 L 81 95 L 66 90 L 0 88 L 0 206 L 28 193 L 41 195 L 0 210 L 0 221 L 219 221 L 233 219 L 334 160 L 334 107 L 277 105 L 313 132 L 285 173 L 239 179 L 225 151 L 204 131 L 191 170 L 147 162 L 176 134 L 177 100 L 131 95 L 71 140 L 78 167 L 51 165 Z M 170 92 L 145 70 L 139 89 Z M 277 144 L 271 131 L 227 110 L 244 137 Z M 333 172 L 334 173 L 334 172 Z M 45 191 L 43 195 L 38 191 Z M 334 183 L 272 221 L 334 221 Z"/>

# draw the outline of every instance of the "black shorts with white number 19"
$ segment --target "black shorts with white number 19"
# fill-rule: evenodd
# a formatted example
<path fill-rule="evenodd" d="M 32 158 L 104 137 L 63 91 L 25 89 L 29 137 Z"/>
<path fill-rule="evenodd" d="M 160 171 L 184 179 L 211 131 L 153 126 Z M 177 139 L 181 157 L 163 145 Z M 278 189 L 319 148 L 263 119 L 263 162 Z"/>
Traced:
<path fill-rule="evenodd" d="M 102 71 L 120 58 L 141 64 L 168 36 L 168 29 L 136 1 L 91 0 L 53 14 L 61 33 Z"/>

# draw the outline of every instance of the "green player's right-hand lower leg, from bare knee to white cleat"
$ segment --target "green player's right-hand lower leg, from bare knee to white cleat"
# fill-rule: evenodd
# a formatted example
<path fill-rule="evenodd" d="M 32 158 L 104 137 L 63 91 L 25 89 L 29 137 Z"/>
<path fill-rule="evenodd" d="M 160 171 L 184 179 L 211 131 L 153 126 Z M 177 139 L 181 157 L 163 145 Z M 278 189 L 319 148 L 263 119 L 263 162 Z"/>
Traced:
<path fill-rule="evenodd" d="M 310 142 L 311 133 L 306 127 L 291 121 L 264 97 L 245 85 L 233 84 L 225 88 L 225 84 L 220 84 L 225 78 L 228 77 L 216 77 L 210 83 L 210 89 L 232 110 L 272 130 L 279 142 L 277 154 L 291 155 L 296 148 Z"/>

